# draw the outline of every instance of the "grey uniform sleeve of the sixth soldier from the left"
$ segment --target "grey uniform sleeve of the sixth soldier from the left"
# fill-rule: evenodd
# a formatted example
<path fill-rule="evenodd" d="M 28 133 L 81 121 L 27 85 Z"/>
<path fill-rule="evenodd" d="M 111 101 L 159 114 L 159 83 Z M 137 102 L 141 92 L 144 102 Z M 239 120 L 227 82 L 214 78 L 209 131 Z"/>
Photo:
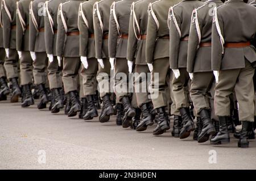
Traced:
<path fill-rule="evenodd" d="M 86 11 L 84 8 L 81 8 L 81 11 L 84 12 L 86 18 Z M 79 30 L 80 30 L 80 56 L 87 57 L 87 45 L 89 32 L 88 27 L 86 26 L 84 20 L 82 19 L 81 13 L 79 13 Z"/>

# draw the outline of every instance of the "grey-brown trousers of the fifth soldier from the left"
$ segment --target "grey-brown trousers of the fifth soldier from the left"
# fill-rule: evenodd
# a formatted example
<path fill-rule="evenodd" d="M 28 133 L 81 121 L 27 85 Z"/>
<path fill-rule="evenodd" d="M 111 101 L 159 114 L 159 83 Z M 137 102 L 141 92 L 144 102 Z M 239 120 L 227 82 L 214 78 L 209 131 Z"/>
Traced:
<path fill-rule="evenodd" d="M 67 94 L 70 91 L 77 91 L 78 79 L 80 68 L 79 57 L 64 57 L 63 60 L 63 84 L 64 90 Z"/>

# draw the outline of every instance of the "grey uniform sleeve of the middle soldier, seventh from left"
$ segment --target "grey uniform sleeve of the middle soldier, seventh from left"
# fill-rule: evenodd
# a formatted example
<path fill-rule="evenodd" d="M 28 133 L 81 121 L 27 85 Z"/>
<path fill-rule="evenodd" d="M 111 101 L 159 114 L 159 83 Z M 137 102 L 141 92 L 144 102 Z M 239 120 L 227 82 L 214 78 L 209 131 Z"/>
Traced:
<path fill-rule="evenodd" d="M 97 2 L 96 2 L 97 3 Z M 94 27 L 94 35 L 95 35 L 95 49 L 96 49 L 96 58 L 101 59 L 102 58 L 102 44 L 103 44 L 103 32 L 101 30 L 100 20 L 97 15 L 100 13 L 101 15 L 101 21 L 102 21 L 102 14 L 100 9 L 97 8 L 96 4 L 94 4 L 93 7 L 93 27 Z"/>

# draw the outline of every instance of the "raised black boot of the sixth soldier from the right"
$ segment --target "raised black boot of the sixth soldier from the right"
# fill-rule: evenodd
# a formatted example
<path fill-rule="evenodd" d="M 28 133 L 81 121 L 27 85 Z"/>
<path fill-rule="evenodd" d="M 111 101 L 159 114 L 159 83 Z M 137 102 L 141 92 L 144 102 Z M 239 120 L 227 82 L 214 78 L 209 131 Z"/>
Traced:
<path fill-rule="evenodd" d="M 125 111 L 125 116 L 123 117 L 122 126 L 123 128 L 130 127 L 131 119 L 135 116 L 135 109 L 131 106 L 130 99 L 127 96 L 122 98 L 122 104 Z"/>

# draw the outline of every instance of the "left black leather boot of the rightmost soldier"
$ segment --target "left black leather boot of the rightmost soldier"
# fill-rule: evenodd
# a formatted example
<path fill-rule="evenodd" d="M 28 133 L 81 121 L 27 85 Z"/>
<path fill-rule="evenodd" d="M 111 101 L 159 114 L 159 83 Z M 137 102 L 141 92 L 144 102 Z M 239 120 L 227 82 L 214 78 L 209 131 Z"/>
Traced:
<path fill-rule="evenodd" d="M 226 125 L 228 117 L 219 116 L 219 119 L 220 130 L 218 131 L 217 135 L 214 138 L 210 139 L 210 143 L 214 145 L 227 144 L 230 142 L 228 127 Z"/>

